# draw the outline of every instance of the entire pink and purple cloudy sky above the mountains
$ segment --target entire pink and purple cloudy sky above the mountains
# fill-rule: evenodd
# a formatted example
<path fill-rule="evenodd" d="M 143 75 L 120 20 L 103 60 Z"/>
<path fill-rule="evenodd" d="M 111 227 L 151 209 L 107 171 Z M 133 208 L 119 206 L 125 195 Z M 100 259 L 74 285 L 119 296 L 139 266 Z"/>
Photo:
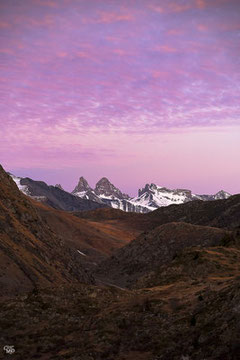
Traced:
<path fill-rule="evenodd" d="M 240 193 L 240 2 L 3 0 L 0 162 Z"/>

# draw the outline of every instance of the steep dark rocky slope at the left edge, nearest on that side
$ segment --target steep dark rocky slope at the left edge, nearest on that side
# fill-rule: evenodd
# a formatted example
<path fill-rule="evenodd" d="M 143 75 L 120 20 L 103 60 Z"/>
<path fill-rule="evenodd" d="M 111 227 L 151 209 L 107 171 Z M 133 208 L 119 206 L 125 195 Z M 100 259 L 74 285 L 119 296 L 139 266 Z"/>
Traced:
<path fill-rule="evenodd" d="M 50 229 L 0 166 L 1 295 L 78 282 L 94 279 L 77 251 Z"/>

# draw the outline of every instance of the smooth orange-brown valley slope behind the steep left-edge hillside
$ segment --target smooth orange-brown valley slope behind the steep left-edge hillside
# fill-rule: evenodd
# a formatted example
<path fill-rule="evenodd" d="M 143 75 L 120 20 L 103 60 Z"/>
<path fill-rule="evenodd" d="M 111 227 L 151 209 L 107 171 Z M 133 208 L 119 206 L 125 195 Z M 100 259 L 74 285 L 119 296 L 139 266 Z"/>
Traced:
<path fill-rule="evenodd" d="M 131 229 L 128 224 L 122 222 L 115 224 L 105 221 L 104 218 L 100 221 L 88 217 L 80 218 L 72 213 L 31 201 L 51 230 L 62 237 L 69 246 L 86 254 L 89 261 L 99 262 L 111 255 L 114 250 L 129 243 L 141 232 Z"/>

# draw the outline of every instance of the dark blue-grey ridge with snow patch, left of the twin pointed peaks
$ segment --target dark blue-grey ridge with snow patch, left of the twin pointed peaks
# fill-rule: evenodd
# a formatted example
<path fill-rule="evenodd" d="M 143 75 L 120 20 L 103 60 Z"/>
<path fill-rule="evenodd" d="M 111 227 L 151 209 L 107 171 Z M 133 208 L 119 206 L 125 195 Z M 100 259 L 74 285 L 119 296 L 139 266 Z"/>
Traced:
<path fill-rule="evenodd" d="M 30 178 L 16 177 L 9 174 L 17 184 L 19 190 L 25 195 L 43 202 L 55 209 L 65 211 L 94 210 L 100 207 L 106 207 L 102 202 L 94 199 L 76 197 L 67 191 L 64 191 L 61 185 L 47 185 L 43 181 L 35 181 Z"/>

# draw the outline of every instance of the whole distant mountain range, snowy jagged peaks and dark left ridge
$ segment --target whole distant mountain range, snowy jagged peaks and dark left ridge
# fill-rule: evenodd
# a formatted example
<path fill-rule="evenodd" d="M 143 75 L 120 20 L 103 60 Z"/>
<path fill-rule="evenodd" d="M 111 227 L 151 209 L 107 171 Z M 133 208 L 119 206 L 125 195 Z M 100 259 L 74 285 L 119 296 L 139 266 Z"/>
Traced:
<path fill-rule="evenodd" d="M 156 184 L 146 184 L 138 190 L 137 197 L 130 197 L 122 193 L 106 177 L 101 178 L 94 189 L 84 177 L 80 177 L 75 189 L 69 193 L 63 190 L 60 184 L 49 186 L 42 181 L 10 175 L 24 194 L 67 211 L 112 207 L 126 212 L 148 213 L 172 204 L 183 204 L 193 200 L 220 200 L 231 196 L 223 190 L 214 195 L 197 195 L 187 189 L 171 190 Z"/>

